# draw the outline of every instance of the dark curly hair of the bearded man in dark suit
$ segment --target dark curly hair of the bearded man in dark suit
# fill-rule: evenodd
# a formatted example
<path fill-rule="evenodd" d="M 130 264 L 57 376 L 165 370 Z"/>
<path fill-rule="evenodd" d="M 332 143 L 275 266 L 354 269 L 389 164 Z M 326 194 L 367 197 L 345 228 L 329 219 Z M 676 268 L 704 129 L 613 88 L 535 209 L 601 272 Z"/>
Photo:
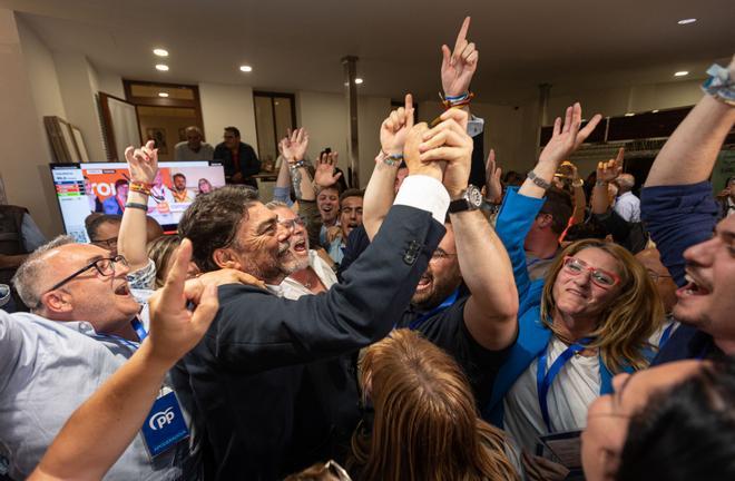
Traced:
<path fill-rule="evenodd" d="M 219 268 L 212 255 L 233 244 L 241 223 L 247 218 L 247 207 L 254 202 L 257 192 L 253 188 L 225 186 L 198 196 L 186 209 L 178 223 L 178 234 L 192 240 L 192 259 L 202 272 Z"/>

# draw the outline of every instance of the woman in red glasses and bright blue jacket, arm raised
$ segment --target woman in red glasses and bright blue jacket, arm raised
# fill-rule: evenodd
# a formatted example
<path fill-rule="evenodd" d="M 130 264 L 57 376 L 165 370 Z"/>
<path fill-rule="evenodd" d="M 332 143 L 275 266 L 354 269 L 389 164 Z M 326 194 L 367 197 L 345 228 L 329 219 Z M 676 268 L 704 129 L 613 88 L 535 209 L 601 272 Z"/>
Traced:
<path fill-rule="evenodd" d="M 553 173 L 598 121 L 595 116 L 580 129 L 581 107 L 569 107 L 564 127 L 557 119 L 537 166 L 518 192 L 508 193 L 498 215 L 518 287 L 519 332 L 483 414 L 531 454 L 539 436 L 584 429 L 592 401 L 612 391 L 614 374 L 648 365 L 648 340 L 664 320 L 647 271 L 616 244 L 572 243 L 545 279 L 528 276 L 523 243 L 531 228 L 545 228 L 539 210 Z M 523 457 L 527 474 L 540 470 L 535 463 Z"/>

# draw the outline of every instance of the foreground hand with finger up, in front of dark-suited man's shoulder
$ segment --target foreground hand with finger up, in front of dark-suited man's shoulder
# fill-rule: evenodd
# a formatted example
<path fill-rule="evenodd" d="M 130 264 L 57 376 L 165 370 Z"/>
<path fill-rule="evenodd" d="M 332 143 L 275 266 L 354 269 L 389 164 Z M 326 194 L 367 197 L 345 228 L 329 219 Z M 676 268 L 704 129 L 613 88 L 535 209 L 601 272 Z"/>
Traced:
<path fill-rule="evenodd" d="M 150 333 L 147 342 L 153 356 L 174 364 L 190 351 L 209 328 L 219 302 L 217 289 L 208 285 L 200 293 L 197 307 L 190 312 L 186 305 L 192 297 L 185 295 L 186 271 L 192 259 L 192 242 L 184 239 L 174 254 L 174 265 L 166 284 L 150 297 Z"/>

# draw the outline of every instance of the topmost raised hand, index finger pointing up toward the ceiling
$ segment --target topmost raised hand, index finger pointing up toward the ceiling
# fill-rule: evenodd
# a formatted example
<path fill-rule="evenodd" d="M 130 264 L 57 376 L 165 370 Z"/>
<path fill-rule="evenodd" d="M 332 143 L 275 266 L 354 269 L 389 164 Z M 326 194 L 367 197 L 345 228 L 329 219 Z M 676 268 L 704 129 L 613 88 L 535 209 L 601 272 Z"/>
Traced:
<path fill-rule="evenodd" d="M 474 43 L 467 40 L 469 29 L 470 18 L 467 17 L 457 35 L 454 50 L 450 52 L 449 47 L 441 46 L 441 86 L 445 96 L 457 97 L 467 92 L 472 76 L 478 69 L 480 52 L 476 49 Z"/>

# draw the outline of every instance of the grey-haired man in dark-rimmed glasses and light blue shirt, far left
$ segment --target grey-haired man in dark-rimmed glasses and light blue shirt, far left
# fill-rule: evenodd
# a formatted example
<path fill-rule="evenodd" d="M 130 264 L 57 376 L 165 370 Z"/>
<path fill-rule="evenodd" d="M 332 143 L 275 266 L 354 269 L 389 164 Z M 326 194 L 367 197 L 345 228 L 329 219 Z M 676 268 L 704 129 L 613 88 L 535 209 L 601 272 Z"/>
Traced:
<path fill-rule="evenodd" d="M 67 236 L 16 273 L 31 313 L 0 318 L 0 467 L 12 479 L 30 474 L 68 416 L 139 346 L 145 331 L 127 274 L 125 257 Z M 136 436 L 109 477 L 194 478 L 189 461 L 186 441 L 151 461 Z"/>

